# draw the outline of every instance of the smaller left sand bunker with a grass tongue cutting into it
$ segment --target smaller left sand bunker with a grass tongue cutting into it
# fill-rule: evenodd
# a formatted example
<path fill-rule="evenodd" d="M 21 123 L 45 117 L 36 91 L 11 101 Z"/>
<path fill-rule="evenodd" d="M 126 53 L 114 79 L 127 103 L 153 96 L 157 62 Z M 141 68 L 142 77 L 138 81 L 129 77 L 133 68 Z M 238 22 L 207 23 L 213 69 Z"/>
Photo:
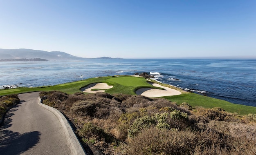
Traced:
<path fill-rule="evenodd" d="M 84 87 L 81 89 L 81 91 L 85 93 L 102 93 L 105 90 L 99 90 L 99 91 L 92 91 L 92 89 L 110 89 L 113 86 L 109 86 L 106 83 L 94 83 L 94 84 L 89 84 L 87 87 Z"/>

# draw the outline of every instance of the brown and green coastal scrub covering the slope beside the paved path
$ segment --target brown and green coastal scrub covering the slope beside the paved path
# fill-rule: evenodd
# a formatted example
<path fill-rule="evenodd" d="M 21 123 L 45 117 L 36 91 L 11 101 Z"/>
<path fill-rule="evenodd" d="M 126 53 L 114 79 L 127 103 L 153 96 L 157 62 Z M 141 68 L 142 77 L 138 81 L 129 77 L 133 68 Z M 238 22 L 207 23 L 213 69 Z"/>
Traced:
<path fill-rule="evenodd" d="M 108 93 L 41 92 L 43 103 L 77 126 L 88 154 L 217 155 L 256 152 L 255 114 L 238 117 L 222 108 L 192 109 L 163 98 Z M 90 146 L 91 150 L 88 148 Z"/>

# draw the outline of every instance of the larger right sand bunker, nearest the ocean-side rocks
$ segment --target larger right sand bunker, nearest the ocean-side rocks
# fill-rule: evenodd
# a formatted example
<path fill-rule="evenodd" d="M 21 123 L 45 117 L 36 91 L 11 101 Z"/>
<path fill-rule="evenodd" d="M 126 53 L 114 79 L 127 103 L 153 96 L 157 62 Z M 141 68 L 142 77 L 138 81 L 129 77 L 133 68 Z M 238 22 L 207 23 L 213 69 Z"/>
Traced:
<path fill-rule="evenodd" d="M 152 89 L 152 88 L 141 88 L 138 89 L 135 93 L 137 95 L 142 95 L 146 97 L 162 97 L 162 96 L 173 96 L 180 95 L 181 92 L 175 89 L 168 88 L 166 86 L 161 86 L 160 84 L 152 84 L 153 86 L 161 87 L 165 90 L 161 89 Z"/>

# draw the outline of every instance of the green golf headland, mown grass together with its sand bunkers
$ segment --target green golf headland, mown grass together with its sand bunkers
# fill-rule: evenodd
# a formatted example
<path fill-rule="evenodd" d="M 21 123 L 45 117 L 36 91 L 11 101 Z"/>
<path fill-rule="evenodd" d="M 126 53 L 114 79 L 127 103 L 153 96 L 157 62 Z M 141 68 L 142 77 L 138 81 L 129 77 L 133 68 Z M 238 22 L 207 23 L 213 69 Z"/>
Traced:
<path fill-rule="evenodd" d="M 108 88 L 103 87 L 92 88 L 96 84 L 104 83 Z M 154 86 L 155 84 L 161 85 Z M 163 87 L 164 86 L 164 87 Z M 110 88 L 111 87 L 111 88 Z M 175 90 L 174 95 L 162 95 L 157 93 L 157 91 L 166 91 L 166 87 L 171 90 Z M 15 89 L 0 89 L 0 96 L 5 96 L 9 94 L 19 94 L 34 91 L 62 91 L 67 94 L 74 94 L 78 92 L 85 91 L 85 89 L 90 89 L 91 93 L 97 91 L 105 92 L 109 94 L 126 94 L 126 95 L 143 95 L 147 90 L 156 93 L 159 97 L 164 97 L 167 100 L 175 102 L 176 104 L 182 104 L 183 102 L 189 103 L 194 108 L 197 106 L 202 106 L 205 108 L 221 107 L 225 111 L 238 113 L 239 115 L 246 115 L 249 113 L 256 113 L 256 107 L 244 106 L 240 104 L 233 104 L 224 100 L 219 100 L 203 95 L 198 95 L 195 93 L 189 93 L 178 89 L 177 87 L 161 84 L 154 80 L 149 80 L 144 77 L 134 77 L 134 76 L 108 76 L 108 77 L 98 77 L 90 78 L 82 81 L 70 82 L 65 84 L 58 84 L 54 86 L 41 86 L 35 88 L 19 87 Z M 95 91 L 95 92 L 94 92 Z M 136 94 L 137 92 L 137 94 Z M 178 92 L 178 93 L 177 93 Z M 86 92 L 84 92 L 86 94 Z M 152 92 L 151 92 L 152 93 Z M 180 94 L 180 95 L 177 95 Z M 147 96 L 147 95 L 145 95 Z"/>

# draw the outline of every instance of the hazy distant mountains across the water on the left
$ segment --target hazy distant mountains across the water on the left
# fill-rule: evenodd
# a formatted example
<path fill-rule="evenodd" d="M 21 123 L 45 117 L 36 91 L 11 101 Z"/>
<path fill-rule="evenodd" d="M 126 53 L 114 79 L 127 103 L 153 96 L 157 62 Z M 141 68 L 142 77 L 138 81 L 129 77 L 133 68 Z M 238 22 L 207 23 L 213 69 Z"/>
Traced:
<path fill-rule="evenodd" d="M 88 59 L 76 57 L 74 55 L 70 55 L 65 52 L 60 51 L 40 51 L 33 49 L 0 49 L 0 61 L 2 60 L 16 60 L 20 59 L 20 61 L 26 61 L 36 58 L 46 59 L 46 60 L 80 60 L 80 59 Z M 109 57 L 101 57 L 94 59 L 112 59 Z"/>

